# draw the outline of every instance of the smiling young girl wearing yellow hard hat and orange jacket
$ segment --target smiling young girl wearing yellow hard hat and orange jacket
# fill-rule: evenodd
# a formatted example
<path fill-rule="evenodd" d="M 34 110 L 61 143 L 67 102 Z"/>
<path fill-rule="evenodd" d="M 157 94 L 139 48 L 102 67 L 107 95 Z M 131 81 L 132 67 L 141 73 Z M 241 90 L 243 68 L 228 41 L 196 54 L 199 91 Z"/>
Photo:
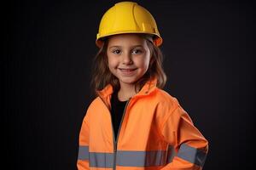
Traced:
<path fill-rule="evenodd" d="M 84 169 L 201 169 L 207 139 L 177 99 L 161 88 L 162 38 L 137 3 L 116 3 L 103 15 L 94 85 L 79 134 Z"/>

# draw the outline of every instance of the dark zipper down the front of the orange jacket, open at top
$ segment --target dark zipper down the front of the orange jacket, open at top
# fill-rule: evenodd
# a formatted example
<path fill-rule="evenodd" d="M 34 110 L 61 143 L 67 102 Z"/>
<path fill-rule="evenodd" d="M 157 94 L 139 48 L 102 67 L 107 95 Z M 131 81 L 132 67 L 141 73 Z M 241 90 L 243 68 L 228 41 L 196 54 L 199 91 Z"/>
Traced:
<path fill-rule="evenodd" d="M 100 99 L 102 99 L 102 98 L 100 97 Z M 120 131 L 120 128 L 121 128 L 121 126 L 122 126 L 122 123 L 123 123 L 123 120 L 124 120 L 124 117 L 125 117 L 126 108 L 127 108 L 128 104 L 130 103 L 130 100 L 131 100 L 131 99 L 129 99 L 129 100 L 126 102 L 126 104 L 125 104 L 125 109 L 124 109 L 124 111 L 123 111 L 123 116 L 122 116 L 121 122 L 120 122 L 120 124 L 119 124 L 119 131 Z M 104 99 L 102 99 L 102 102 L 103 102 L 103 104 L 106 105 L 106 107 L 108 108 L 108 105 L 104 102 Z M 109 108 L 108 108 L 108 111 L 109 111 L 110 117 L 112 117 L 112 116 L 111 116 L 111 111 L 109 110 Z M 112 132 L 113 132 L 113 170 L 115 170 L 115 169 L 116 169 L 116 152 L 117 152 L 117 143 L 118 143 L 118 139 L 119 139 L 119 131 L 118 131 L 117 136 L 116 136 L 116 139 L 115 139 L 112 118 L 110 119 L 110 121 L 111 121 Z"/>

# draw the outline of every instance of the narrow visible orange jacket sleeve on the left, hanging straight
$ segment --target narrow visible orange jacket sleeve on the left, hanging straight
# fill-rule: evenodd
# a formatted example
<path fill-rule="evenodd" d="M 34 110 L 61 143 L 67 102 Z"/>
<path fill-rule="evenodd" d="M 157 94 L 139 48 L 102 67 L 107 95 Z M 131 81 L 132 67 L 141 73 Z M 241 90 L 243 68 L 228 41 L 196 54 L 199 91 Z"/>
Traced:
<path fill-rule="evenodd" d="M 77 161 L 77 167 L 79 170 L 90 169 L 89 168 L 89 123 L 88 115 L 84 116 L 82 126 L 79 133 L 79 156 Z"/>

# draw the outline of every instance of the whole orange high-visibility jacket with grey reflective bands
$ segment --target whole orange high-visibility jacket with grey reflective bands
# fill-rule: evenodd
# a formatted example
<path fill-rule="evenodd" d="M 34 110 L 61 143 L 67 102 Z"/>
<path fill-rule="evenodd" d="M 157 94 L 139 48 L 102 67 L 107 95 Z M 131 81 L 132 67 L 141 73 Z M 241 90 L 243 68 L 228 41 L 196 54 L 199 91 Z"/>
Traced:
<path fill-rule="evenodd" d="M 208 142 L 176 98 L 148 81 L 125 105 L 117 139 L 108 85 L 90 104 L 79 133 L 77 167 L 117 170 L 195 170 L 203 167 Z"/>

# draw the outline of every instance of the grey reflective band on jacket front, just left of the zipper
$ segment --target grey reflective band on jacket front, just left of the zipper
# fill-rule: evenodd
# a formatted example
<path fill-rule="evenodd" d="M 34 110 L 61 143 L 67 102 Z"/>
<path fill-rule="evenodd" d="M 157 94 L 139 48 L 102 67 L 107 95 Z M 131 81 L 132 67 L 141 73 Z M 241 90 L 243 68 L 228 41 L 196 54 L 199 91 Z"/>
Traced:
<path fill-rule="evenodd" d="M 113 167 L 113 153 L 90 152 L 90 167 Z"/>

